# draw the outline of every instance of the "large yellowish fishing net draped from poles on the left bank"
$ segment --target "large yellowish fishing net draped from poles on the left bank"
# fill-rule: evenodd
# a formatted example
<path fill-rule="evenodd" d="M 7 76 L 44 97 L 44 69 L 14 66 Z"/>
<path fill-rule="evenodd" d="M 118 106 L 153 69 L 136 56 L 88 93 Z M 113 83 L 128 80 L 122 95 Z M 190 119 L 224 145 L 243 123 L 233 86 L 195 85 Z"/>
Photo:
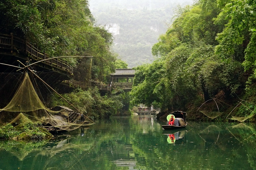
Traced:
<path fill-rule="evenodd" d="M 1 73 L 0 75 L 2 80 L 5 80 L 0 83 L 0 93 L 2 96 L 6 96 L 3 101 L 7 103 L 3 109 L 0 109 L 1 124 L 32 122 L 43 125 L 49 130 L 58 128 L 66 131 L 93 124 L 81 112 L 75 112 L 65 107 L 59 107 L 57 110 L 48 109 L 43 100 L 47 96 L 45 92 L 47 88 L 40 87 L 42 82 L 36 82 L 34 79 L 32 83 L 27 72 L 22 74 Z M 18 88 L 17 84 L 19 84 Z M 11 100 L 7 96 L 12 96 Z"/>

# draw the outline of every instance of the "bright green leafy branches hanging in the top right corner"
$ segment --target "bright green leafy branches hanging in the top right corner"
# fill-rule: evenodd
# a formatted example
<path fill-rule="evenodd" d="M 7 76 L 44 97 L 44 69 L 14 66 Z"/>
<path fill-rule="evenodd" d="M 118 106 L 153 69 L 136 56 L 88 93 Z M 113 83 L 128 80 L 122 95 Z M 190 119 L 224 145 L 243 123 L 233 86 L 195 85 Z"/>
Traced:
<path fill-rule="evenodd" d="M 217 34 L 219 45 L 216 53 L 223 59 L 233 58 L 244 61 L 245 70 L 255 64 L 255 32 L 256 2 L 251 0 L 219 1 L 223 7 L 216 18 L 217 21 L 225 18 L 228 23 L 223 31 Z M 253 68 L 254 69 L 254 68 Z"/>

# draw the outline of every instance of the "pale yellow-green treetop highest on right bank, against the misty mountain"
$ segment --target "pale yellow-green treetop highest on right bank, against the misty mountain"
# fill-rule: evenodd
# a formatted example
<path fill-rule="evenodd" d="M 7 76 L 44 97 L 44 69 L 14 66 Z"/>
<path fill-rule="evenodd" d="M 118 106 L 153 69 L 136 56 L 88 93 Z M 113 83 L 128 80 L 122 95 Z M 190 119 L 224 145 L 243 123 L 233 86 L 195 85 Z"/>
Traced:
<path fill-rule="evenodd" d="M 213 19 L 219 14 L 220 8 L 216 0 L 201 0 L 193 6 L 186 6 L 176 11 L 177 18 L 172 28 L 167 32 L 172 33 L 182 42 L 195 43 L 202 41 L 215 45 L 216 33 L 222 30 L 223 25 L 214 25 Z"/>

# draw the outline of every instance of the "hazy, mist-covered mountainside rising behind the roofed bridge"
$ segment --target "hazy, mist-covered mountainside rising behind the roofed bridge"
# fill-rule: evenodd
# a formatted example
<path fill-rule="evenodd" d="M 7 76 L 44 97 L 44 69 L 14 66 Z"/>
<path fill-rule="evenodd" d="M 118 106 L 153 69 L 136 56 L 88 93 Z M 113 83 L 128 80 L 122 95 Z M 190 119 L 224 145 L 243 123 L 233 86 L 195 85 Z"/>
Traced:
<path fill-rule="evenodd" d="M 90 9 L 96 23 L 105 25 L 113 33 L 114 51 L 135 67 L 151 63 L 154 58 L 152 46 L 171 25 L 172 15 L 177 5 L 192 4 L 192 0 L 183 1 L 118 1 L 90 0 Z"/>

